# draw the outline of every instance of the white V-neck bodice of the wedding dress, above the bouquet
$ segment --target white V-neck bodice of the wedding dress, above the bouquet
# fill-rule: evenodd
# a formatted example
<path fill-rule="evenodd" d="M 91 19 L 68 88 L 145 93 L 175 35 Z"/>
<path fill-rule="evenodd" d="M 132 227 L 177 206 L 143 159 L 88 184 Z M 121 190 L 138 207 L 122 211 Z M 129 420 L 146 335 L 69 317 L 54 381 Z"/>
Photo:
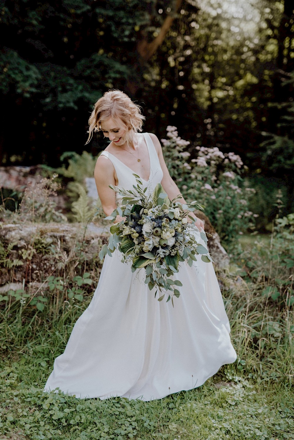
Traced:
<path fill-rule="evenodd" d="M 140 134 L 138 134 L 138 136 L 140 136 Z M 143 186 L 147 187 L 147 193 L 150 194 L 156 187 L 156 184 L 161 182 L 163 178 L 163 172 L 151 137 L 148 133 L 142 133 L 142 136 L 144 136 L 148 148 L 150 175 L 148 180 L 142 178 L 141 180 L 143 182 Z M 136 178 L 133 176 L 133 174 L 138 175 L 138 173 L 135 173 L 132 169 L 130 169 L 127 165 L 125 165 L 122 161 L 120 161 L 108 151 L 102 151 L 101 155 L 106 156 L 112 162 L 118 179 L 118 187 L 130 190 L 133 189 L 133 185 L 137 185 Z M 122 196 L 118 193 L 115 193 L 115 195 L 116 204 L 119 205 Z"/>

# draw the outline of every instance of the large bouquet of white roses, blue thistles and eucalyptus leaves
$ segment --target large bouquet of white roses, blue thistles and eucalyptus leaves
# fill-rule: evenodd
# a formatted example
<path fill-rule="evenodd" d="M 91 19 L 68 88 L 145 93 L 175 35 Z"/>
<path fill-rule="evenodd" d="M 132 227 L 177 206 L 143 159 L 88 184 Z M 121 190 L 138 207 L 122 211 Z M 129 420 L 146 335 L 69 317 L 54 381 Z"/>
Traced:
<path fill-rule="evenodd" d="M 150 290 L 156 286 L 156 293 L 158 290 L 164 293 L 158 301 L 171 292 L 167 301 L 171 299 L 173 303 L 173 295 L 180 295 L 176 287 L 182 286 L 179 280 L 171 278 L 179 271 L 179 263 L 187 260 L 192 266 L 198 254 L 201 254 L 201 260 L 211 261 L 205 246 L 197 243 L 199 231 L 194 225 L 194 218 L 188 214 L 195 208 L 203 209 L 203 206 L 196 201 L 186 205 L 179 203 L 182 194 L 170 201 L 160 183 L 148 196 L 140 177 L 134 176 L 137 182 L 134 191 L 110 185 L 122 196 L 122 205 L 105 220 L 114 222 L 116 216 L 123 217 L 123 220 L 110 228 L 109 242 L 102 246 L 99 257 L 102 260 L 106 253 L 111 257 L 118 249 L 122 253 L 122 261 L 131 262 L 133 272 L 145 268 L 145 284 Z M 188 222 L 187 216 L 192 223 Z M 207 242 L 204 231 L 200 232 L 200 236 Z"/>

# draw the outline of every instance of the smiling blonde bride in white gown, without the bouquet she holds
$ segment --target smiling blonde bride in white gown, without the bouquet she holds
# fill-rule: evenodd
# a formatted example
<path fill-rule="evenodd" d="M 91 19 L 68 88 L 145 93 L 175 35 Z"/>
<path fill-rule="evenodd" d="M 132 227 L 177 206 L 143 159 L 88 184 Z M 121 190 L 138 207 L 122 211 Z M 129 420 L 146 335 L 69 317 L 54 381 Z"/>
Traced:
<path fill-rule="evenodd" d="M 170 199 L 180 193 L 156 136 L 139 133 L 143 119 L 139 107 L 117 90 L 98 99 L 89 118 L 88 141 L 98 130 L 111 141 L 94 171 L 106 215 L 120 202 L 109 185 L 133 188 L 133 173 L 147 191 L 160 182 Z M 199 219 L 196 225 L 204 227 Z M 80 398 L 148 401 L 200 386 L 223 364 L 235 361 L 212 263 L 200 258 L 191 268 L 182 263 L 177 274 L 182 294 L 173 308 L 154 298 L 144 270 L 132 273 L 120 259 L 119 252 L 106 255 L 93 299 L 55 359 L 45 391 L 58 387 Z"/>

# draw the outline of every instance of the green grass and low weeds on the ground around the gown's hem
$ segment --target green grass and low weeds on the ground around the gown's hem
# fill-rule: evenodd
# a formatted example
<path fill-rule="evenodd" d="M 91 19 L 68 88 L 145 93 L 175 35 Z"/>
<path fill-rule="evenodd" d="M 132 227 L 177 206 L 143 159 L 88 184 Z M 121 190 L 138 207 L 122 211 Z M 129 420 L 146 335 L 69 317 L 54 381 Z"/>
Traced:
<path fill-rule="evenodd" d="M 197 389 L 152 402 L 43 393 L 90 297 L 67 305 L 55 298 L 34 312 L 11 303 L 0 323 L 0 439 L 294 438 L 293 312 L 277 312 L 253 285 L 233 279 L 223 283 L 238 360 Z"/>

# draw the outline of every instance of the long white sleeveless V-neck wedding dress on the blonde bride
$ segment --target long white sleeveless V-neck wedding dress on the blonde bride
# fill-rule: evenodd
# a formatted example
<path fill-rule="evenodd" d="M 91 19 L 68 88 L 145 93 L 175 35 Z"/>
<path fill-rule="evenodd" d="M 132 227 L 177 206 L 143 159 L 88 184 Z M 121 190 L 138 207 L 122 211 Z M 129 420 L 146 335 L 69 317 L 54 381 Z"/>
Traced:
<path fill-rule="evenodd" d="M 150 177 L 153 191 L 162 169 L 151 137 Z M 133 172 L 104 151 L 115 167 L 119 186 L 133 189 Z M 119 200 L 118 200 L 119 202 Z M 198 237 L 198 242 L 204 244 Z M 153 400 L 202 385 L 236 359 L 230 324 L 212 263 L 197 258 L 181 263 L 176 277 L 181 295 L 157 301 L 144 283 L 145 269 L 131 272 L 118 251 L 106 255 L 89 307 L 74 325 L 65 351 L 54 362 L 45 391 L 59 388 L 78 398 L 112 396 Z"/>

